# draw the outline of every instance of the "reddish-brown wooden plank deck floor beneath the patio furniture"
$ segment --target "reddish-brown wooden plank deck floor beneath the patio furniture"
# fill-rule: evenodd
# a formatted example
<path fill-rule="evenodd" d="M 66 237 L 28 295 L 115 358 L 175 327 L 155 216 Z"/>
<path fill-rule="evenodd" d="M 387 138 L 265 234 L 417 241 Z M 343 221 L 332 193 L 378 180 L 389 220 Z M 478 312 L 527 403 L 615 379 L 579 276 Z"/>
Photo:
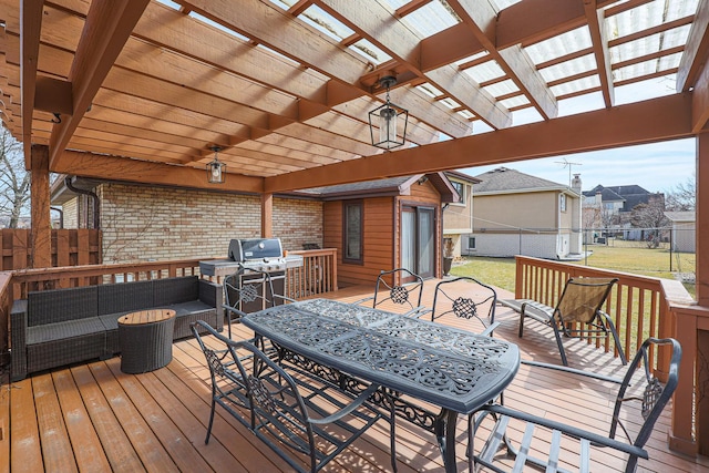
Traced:
<path fill-rule="evenodd" d="M 425 304 L 432 302 L 433 281 L 427 282 Z M 464 290 L 461 287 L 461 290 Z M 501 291 L 501 297 L 511 297 Z M 342 300 L 368 295 L 356 287 L 330 294 Z M 516 317 L 499 308 L 502 323 L 495 336 L 520 345 L 522 357 L 554 361 L 551 330 L 535 327 L 516 336 Z M 465 321 L 446 322 L 463 326 Z M 237 333 L 248 336 L 243 326 Z M 552 338 L 549 338 L 552 337 Z M 566 341 L 569 363 L 605 373 L 619 373 L 620 363 L 583 342 Z M 120 359 L 96 361 L 40 373 L 8 384 L 0 392 L 0 473 L 14 472 L 287 472 L 290 467 L 240 423 L 217 409 L 213 439 L 204 443 L 209 417 L 209 373 L 192 339 L 174 345 L 173 361 L 145 374 L 124 374 Z M 7 379 L 6 379 L 7 381 Z M 571 419 L 587 428 L 606 424 L 612 400 L 608 383 L 522 366 L 505 391 L 505 404 L 537 414 Z M 656 424 L 647 448 L 650 461 L 638 471 L 709 472 L 709 459 L 687 459 L 667 448 L 669 409 Z M 464 422 L 459 430 L 459 470 L 465 471 Z M 400 472 L 442 471 L 432 434 L 400 420 L 397 424 Z M 603 471 L 621 471 L 621 459 L 594 453 Z M 573 465 L 575 453 L 562 461 Z M 388 429 L 376 425 L 339 455 L 326 471 L 390 470 Z"/>

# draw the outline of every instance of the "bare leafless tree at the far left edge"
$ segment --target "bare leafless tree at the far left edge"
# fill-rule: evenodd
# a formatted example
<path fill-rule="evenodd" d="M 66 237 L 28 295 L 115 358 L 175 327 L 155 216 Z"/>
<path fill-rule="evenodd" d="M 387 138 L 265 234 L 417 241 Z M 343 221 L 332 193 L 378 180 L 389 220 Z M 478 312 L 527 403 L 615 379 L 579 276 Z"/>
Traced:
<path fill-rule="evenodd" d="M 17 228 L 30 200 L 30 173 L 24 168 L 22 144 L 4 126 L 0 131 L 0 212 Z"/>

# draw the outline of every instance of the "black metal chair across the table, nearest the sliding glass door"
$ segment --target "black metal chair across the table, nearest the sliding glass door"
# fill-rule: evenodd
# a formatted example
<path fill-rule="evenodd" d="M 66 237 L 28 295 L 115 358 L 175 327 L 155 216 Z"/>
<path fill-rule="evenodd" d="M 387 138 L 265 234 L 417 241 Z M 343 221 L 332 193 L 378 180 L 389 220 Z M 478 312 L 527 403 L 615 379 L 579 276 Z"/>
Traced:
<path fill-rule="evenodd" d="M 397 279 L 398 278 L 398 279 Z M 399 282 L 395 282 L 395 281 Z M 415 273 L 404 268 L 383 269 L 377 277 L 374 285 L 374 295 L 357 300 L 352 304 L 363 304 L 372 301 L 372 307 L 378 307 L 386 302 L 393 302 L 407 308 L 405 315 L 420 317 L 428 310 L 421 306 L 421 297 L 423 296 L 423 278 Z"/>

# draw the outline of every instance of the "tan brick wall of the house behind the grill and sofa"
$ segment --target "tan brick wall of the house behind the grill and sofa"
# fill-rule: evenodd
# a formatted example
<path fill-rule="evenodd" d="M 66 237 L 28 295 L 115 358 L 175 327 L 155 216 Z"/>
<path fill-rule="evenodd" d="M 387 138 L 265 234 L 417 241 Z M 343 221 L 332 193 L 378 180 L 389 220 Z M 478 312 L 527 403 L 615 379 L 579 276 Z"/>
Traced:
<path fill-rule="evenodd" d="M 229 239 L 260 236 L 260 198 L 178 188 L 103 184 L 103 260 L 224 258 Z M 322 244 L 322 204 L 274 198 L 274 236 L 285 249 Z"/>

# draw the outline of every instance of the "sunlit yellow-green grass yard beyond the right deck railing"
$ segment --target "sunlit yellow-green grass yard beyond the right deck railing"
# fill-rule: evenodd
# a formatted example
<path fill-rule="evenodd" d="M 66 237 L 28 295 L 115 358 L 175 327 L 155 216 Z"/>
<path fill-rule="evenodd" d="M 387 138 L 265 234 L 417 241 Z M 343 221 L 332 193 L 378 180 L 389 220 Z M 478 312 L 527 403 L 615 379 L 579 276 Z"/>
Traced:
<path fill-rule="evenodd" d="M 672 253 L 670 255 L 669 250 L 665 248 L 650 249 L 646 246 L 638 246 L 637 243 L 621 240 L 614 240 L 608 246 L 590 245 L 588 249 L 593 254 L 580 261 L 565 263 L 665 279 L 680 279 L 679 275 L 693 276 L 695 274 L 696 256 L 693 253 Z M 469 257 L 464 264 L 455 265 L 451 269 L 451 274 L 471 276 L 483 282 L 514 291 L 514 258 Z M 685 287 L 695 297 L 693 282 L 685 282 Z"/>

